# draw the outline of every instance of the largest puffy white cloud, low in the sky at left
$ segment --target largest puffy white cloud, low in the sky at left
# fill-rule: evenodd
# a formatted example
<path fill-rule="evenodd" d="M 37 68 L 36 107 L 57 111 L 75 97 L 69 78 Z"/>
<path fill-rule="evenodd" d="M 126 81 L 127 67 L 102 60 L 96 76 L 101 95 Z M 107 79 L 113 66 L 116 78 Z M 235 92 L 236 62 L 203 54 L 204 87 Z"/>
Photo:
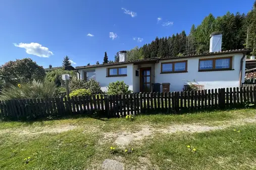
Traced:
<path fill-rule="evenodd" d="M 25 48 L 26 53 L 36 55 L 38 57 L 49 57 L 54 55 L 54 53 L 52 51 L 49 51 L 47 47 L 43 47 L 41 44 L 38 44 L 38 43 L 30 43 L 30 44 L 14 43 L 14 45 L 16 47 Z"/>

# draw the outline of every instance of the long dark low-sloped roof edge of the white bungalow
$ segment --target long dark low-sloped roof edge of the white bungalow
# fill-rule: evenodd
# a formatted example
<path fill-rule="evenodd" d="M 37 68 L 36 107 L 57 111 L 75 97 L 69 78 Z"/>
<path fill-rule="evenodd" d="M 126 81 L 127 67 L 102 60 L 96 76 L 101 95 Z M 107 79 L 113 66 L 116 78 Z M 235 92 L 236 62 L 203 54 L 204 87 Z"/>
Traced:
<path fill-rule="evenodd" d="M 208 52 L 208 53 L 199 53 L 199 54 L 191 54 L 186 56 L 172 56 L 172 57 L 164 57 L 164 58 L 148 58 L 148 59 L 140 59 L 140 60 L 132 60 L 132 61 L 124 61 L 124 62 L 113 62 L 113 63 L 106 63 L 106 64 L 98 64 L 98 65 L 85 65 L 85 66 L 77 66 L 76 69 L 79 68 L 91 68 L 91 67 L 102 67 L 102 66 L 110 66 L 110 65 L 121 65 L 121 64 L 129 64 L 129 63 L 136 63 L 136 64 L 143 64 L 146 62 L 157 62 L 158 60 L 166 60 L 166 59 L 177 59 L 177 58 L 188 58 L 188 57 L 201 57 L 201 56 L 211 56 L 211 55 L 221 55 L 221 54 L 233 54 L 233 53 L 250 53 L 252 52 L 251 49 L 237 49 L 237 50 L 227 50 L 227 51 L 220 51 L 220 52 Z"/>

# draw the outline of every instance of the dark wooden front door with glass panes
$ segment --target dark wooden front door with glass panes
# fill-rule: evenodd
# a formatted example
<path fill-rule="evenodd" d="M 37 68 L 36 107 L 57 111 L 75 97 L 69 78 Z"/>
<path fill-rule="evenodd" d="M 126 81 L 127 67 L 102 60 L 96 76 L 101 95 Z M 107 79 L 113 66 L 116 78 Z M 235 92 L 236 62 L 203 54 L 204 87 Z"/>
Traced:
<path fill-rule="evenodd" d="M 151 67 L 140 68 L 140 92 L 151 92 Z"/>

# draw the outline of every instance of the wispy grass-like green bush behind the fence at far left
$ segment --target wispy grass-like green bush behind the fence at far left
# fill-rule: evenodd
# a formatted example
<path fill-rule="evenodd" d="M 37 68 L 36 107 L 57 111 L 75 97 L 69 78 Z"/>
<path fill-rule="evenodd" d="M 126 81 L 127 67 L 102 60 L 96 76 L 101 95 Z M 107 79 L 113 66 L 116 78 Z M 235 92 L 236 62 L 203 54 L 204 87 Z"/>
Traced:
<path fill-rule="evenodd" d="M 18 87 L 19 86 L 19 87 Z M 52 98 L 56 92 L 55 82 L 47 80 L 32 81 L 31 83 L 17 84 L 17 86 L 10 85 L 3 89 L 0 96 L 1 100 L 12 99 L 32 99 L 32 98 Z"/>

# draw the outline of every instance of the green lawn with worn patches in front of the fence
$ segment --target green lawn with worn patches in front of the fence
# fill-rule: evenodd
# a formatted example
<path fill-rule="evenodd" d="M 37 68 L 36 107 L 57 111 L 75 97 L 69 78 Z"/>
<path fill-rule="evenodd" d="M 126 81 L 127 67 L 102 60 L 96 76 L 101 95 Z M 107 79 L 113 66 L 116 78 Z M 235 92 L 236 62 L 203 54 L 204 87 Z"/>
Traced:
<path fill-rule="evenodd" d="M 0 169 L 101 169 L 107 158 L 122 162 L 125 169 L 256 169 L 255 116 L 255 109 L 240 109 L 141 115 L 134 121 L 79 115 L 35 122 L 3 121 Z M 199 130 L 171 131 L 187 126 Z M 205 127 L 216 129 L 203 131 Z M 141 138 L 121 148 L 115 140 L 122 134 L 139 134 Z M 191 152 L 187 145 L 196 151 Z M 110 146 L 117 147 L 118 153 L 110 153 Z M 128 154 L 126 148 L 134 148 L 134 152 Z"/>

